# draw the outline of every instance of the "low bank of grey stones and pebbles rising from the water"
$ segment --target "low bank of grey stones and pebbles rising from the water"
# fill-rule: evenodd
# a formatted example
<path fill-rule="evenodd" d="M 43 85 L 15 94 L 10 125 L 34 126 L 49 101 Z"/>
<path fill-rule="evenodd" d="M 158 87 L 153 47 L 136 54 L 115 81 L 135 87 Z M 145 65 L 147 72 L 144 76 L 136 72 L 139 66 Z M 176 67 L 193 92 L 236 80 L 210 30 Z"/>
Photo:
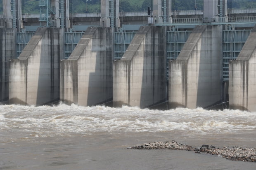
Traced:
<path fill-rule="evenodd" d="M 152 142 L 149 144 L 142 144 L 130 149 L 172 149 L 195 151 L 195 153 L 206 153 L 212 155 L 220 155 L 223 158 L 233 161 L 256 162 L 256 148 L 241 148 L 241 147 L 223 147 L 216 148 L 214 146 L 202 145 L 201 147 L 192 147 L 186 144 L 178 143 L 175 140 L 171 142 Z"/>

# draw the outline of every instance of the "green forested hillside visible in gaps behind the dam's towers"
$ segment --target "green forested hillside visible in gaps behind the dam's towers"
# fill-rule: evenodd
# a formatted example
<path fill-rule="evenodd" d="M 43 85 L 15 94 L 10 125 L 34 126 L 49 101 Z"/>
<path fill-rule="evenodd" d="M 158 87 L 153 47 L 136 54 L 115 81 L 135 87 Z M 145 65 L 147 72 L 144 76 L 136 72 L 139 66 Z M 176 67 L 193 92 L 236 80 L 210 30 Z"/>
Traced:
<path fill-rule="evenodd" d="M 23 13 L 39 13 L 39 0 L 23 0 Z M 172 0 L 174 10 L 200 10 L 203 9 L 204 0 Z M 152 0 L 119 0 L 120 11 L 135 12 L 146 11 L 152 7 Z M 229 8 L 256 8 L 256 0 L 228 0 Z M 100 0 L 70 0 L 71 13 L 100 12 Z M 2 0 L 0 0 L 0 13 L 2 13 Z"/>

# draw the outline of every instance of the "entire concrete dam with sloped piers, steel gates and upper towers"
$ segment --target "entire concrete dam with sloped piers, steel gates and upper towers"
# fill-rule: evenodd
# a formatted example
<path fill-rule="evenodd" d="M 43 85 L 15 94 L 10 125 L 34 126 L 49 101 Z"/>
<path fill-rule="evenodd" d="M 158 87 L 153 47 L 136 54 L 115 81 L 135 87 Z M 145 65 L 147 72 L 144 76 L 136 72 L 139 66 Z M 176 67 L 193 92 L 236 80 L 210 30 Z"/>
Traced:
<path fill-rule="evenodd" d="M 0 102 L 140 108 L 211 107 L 256 111 L 256 9 L 204 0 L 204 10 L 173 11 L 153 0 L 147 12 L 70 14 L 69 0 L 3 0 Z"/>

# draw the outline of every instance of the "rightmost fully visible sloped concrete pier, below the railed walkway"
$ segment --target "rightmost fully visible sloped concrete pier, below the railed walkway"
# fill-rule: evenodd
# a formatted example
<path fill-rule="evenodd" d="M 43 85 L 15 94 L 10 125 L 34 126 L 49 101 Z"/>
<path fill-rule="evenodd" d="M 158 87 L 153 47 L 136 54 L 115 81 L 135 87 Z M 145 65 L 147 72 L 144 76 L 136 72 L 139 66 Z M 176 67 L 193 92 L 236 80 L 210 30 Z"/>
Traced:
<path fill-rule="evenodd" d="M 222 27 L 196 26 L 177 60 L 169 61 L 169 106 L 208 107 L 221 102 Z"/>

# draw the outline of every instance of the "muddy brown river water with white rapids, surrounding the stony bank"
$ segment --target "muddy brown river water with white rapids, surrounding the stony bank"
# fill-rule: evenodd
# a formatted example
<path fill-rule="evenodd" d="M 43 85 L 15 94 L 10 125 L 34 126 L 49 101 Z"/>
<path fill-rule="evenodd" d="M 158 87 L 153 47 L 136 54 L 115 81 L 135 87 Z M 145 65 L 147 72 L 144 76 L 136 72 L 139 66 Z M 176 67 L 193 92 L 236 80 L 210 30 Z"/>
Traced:
<path fill-rule="evenodd" d="M 255 170 L 192 151 L 125 149 L 176 140 L 256 147 L 256 113 L 77 105 L 0 105 L 0 170 Z"/>

